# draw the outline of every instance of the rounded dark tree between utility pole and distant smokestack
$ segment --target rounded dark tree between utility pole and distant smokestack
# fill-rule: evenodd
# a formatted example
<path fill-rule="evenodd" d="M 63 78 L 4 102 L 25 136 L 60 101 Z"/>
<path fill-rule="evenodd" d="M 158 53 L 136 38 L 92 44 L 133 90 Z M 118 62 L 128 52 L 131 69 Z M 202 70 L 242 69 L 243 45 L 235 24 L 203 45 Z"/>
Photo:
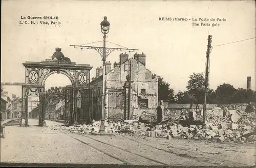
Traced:
<path fill-rule="evenodd" d="M 228 83 L 223 83 L 216 89 L 216 102 L 219 104 L 232 103 L 232 97 L 238 90 Z"/>

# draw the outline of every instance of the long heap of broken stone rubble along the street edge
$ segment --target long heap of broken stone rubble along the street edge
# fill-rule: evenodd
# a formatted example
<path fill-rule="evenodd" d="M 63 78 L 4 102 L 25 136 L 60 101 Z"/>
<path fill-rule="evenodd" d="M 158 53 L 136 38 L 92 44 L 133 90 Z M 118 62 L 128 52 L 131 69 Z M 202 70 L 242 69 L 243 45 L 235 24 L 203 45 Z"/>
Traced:
<path fill-rule="evenodd" d="M 238 113 L 229 111 L 226 117 L 211 113 L 206 113 L 205 128 L 202 125 L 182 126 L 180 120 L 184 120 L 186 113 L 182 115 L 167 114 L 164 121 L 156 124 L 157 115 L 143 114 L 139 122 L 113 122 L 105 121 L 105 132 L 124 134 L 133 136 L 150 136 L 171 138 L 194 138 L 206 139 L 209 141 L 234 142 L 234 143 L 255 143 L 255 113 Z M 197 116 L 198 117 L 198 116 Z M 196 119 L 200 119 L 199 117 Z M 93 121 L 90 125 L 56 126 L 64 132 L 88 134 L 99 132 L 100 121 Z"/>

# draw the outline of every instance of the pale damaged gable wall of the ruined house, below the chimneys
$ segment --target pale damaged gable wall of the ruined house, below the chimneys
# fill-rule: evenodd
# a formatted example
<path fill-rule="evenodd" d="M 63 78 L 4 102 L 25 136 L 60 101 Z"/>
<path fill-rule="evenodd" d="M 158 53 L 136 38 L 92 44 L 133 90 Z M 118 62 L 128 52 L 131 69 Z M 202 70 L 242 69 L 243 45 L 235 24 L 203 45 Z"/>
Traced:
<path fill-rule="evenodd" d="M 116 108 L 123 113 L 124 102 L 121 99 L 124 98 L 124 95 L 120 94 L 124 91 L 124 85 L 127 76 L 127 71 L 129 71 L 131 63 L 131 116 L 138 115 L 143 111 L 154 113 L 157 108 L 158 102 L 158 79 L 152 79 L 152 72 L 145 68 L 143 64 L 137 60 L 131 58 L 125 63 L 116 66 L 114 69 L 106 73 L 105 75 L 105 116 L 109 116 L 110 109 Z M 100 87 L 102 91 L 102 76 L 98 77 L 91 82 L 91 87 Z M 119 92 L 114 94 L 114 91 Z M 101 93 L 100 93 L 101 97 Z M 147 103 L 146 103 L 147 101 Z M 114 102 L 114 104 L 113 104 Z M 142 104 L 147 104 L 143 106 Z M 140 104 L 140 105 L 138 105 Z M 101 105 L 101 101 L 98 101 L 98 105 Z"/>

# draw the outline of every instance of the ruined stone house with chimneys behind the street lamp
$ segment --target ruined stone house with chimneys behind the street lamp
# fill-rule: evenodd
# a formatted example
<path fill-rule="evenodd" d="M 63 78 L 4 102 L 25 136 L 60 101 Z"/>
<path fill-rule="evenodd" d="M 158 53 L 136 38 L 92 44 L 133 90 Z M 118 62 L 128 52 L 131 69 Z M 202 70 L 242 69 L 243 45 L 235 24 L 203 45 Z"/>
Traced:
<path fill-rule="evenodd" d="M 134 58 L 129 59 L 129 55 L 124 53 L 119 55 L 119 63 L 107 62 L 105 66 L 105 118 L 131 119 L 134 115 L 146 113 L 156 113 L 158 104 L 158 78 L 152 78 L 152 72 L 146 69 L 146 55 L 134 54 Z M 130 70 L 131 67 L 131 70 Z M 129 80 L 127 76 L 131 72 L 131 92 L 129 92 Z M 96 77 L 90 83 L 92 88 L 92 116 L 94 120 L 99 120 L 101 116 L 102 104 L 102 73 L 103 68 L 96 69 Z M 131 99 L 129 100 L 129 93 Z M 127 111 L 130 106 L 130 115 Z"/>

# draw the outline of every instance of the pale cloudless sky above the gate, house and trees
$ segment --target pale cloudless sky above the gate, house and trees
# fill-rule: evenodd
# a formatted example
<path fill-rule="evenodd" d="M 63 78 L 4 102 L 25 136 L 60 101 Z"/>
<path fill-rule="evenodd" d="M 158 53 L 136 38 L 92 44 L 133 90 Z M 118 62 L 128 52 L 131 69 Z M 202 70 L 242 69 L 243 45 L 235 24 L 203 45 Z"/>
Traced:
<path fill-rule="evenodd" d="M 58 16 L 60 24 L 20 25 L 21 17 L 28 16 Z M 100 22 L 104 16 L 111 23 L 106 40 L 144 52 L 146 68 L 162 76 L 176 93 L 186 90 L 190 74 L 205 72 L 208 35 L 212 35 L 213 46 L 209 87 L 216 89 L 225 82 L 246 89 L 246 77 L 251 76 L 255 90 L 254 1 L 2 1 L 1 82 L 24 82 L 22 63 L 51 59 L 55 47 L 62 48 L 72 62 L 93 66 L 91 76 L 96 76 L 96 68 L 102 64 L 98 52 L 70 45 L 102 41 Z M 164 21 L 159 17 L 190 20 Z M 192 26 L 193 18 L 226 21 Z M 212 27 L 212 23 L 220 25 Z M 254 39 L 232 43 L 249 38 Z M 230 44 L 221 45 L 226 43 Z M 118 47 L 111 43 L 106 46 Z M 113 66 L 120 53 L 113 51 L 106 61 Z M 46 80 L 46 88 L 70 84 L 62 74 Z M 21 87 L 5 86 L 5 90 L 21 95 Z"/>

